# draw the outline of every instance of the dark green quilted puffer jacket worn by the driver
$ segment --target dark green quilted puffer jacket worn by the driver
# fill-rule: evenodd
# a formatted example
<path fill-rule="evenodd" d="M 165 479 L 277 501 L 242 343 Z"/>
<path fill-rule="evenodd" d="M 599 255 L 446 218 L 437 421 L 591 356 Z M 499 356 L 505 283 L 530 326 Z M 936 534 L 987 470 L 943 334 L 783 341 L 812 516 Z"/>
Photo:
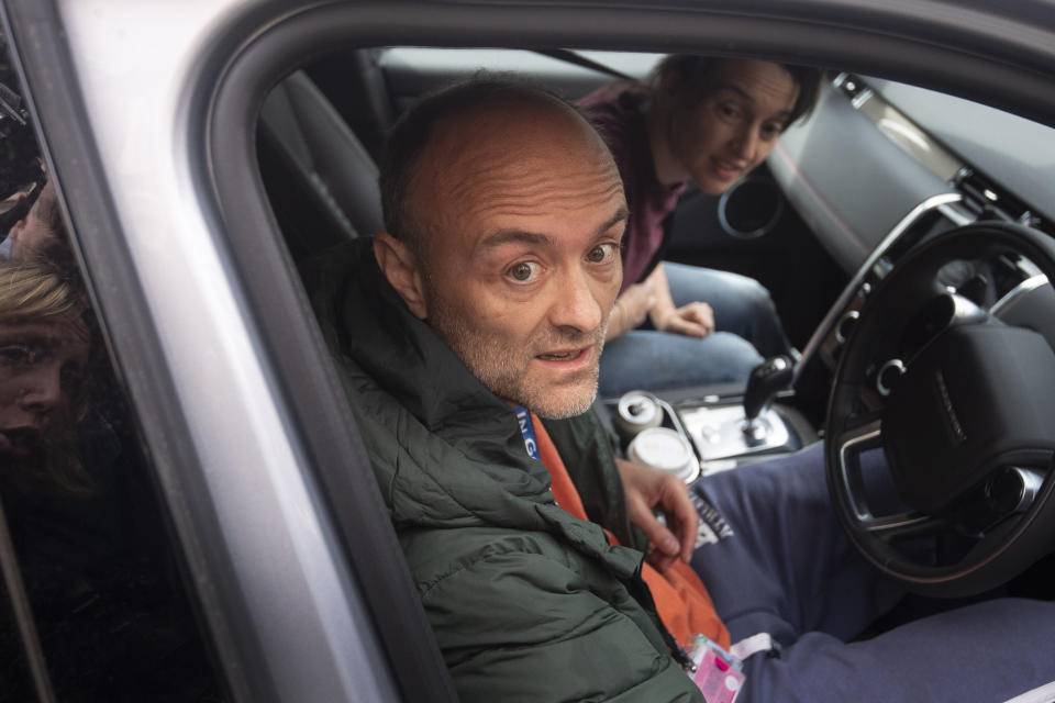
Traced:
<path fill-rule="evenodd" d="M 554 503 L 513 411 L 410 314 L 369 242 L 303 275 L 460 699 L 702 701 L 668 654 L 642 554 Z M 596 416 L 546 428 L 590 516 L 629 540 Z"/>

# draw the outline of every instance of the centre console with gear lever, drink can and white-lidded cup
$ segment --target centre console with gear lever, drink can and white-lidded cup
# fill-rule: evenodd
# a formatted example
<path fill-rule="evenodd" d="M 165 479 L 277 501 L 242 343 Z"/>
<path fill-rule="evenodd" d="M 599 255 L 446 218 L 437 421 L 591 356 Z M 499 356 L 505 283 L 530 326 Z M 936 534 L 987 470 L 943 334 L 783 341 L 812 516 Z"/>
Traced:
<path fill-rule="evenodd" d="M 909 212 L 867 257 L 795 362 L 775 370 L 767 367 L 774 359 L 767 360 L 746 388 L 633 391 L 599 401 L 600 414 L 617 431 L 626 456 L 693 481 L 817 442 L 817 429 L 790 402 L 793 399 L 799 408 L 812 403 L 819 408 L 811 414 L 823 415 L 842 346 L 868 294 L 915 244 L 974 220 L 962 200 L 959 193 L 943 193 Z M 803 370 L 810 378 L 803 378 Z M 880 373 L 876 382 L 881 380 Z"/>

